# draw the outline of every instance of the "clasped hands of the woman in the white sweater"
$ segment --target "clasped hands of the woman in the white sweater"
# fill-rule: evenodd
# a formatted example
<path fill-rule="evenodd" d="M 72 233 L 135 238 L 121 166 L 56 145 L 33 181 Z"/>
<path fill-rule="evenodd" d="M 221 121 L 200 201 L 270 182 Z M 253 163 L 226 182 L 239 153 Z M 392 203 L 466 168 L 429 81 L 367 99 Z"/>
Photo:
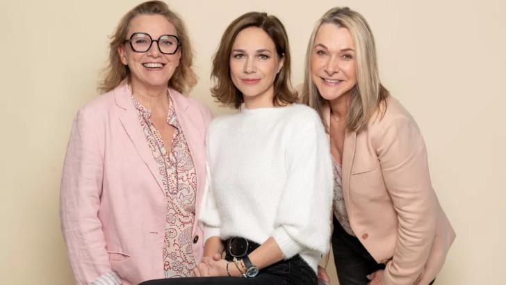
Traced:
<path fill-rule="evenodd" d="M 229 263 L 229 274 L 232 277 L 242 277 L 234 262 L 222 259 L 221 254 L 218 253 L 213 257 L 203 257 L 199 265 L 193 268 L 193 275 L 195 277 L 229 276 L 227 263 Z"/>

